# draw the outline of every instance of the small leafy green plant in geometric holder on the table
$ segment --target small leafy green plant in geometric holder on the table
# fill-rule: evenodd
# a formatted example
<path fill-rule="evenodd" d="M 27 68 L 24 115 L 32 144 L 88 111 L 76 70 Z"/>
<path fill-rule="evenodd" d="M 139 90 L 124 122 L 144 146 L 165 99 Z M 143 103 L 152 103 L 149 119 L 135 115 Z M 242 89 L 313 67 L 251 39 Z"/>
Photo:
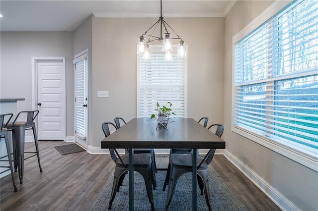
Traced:
<path fill-rule="evenodd" d="M 170 102 L 167 102 L 164 106 L 160 107 L 159 103 L 157 102 L 157 108 L 155 110 L 158 111 L 158 115 L 151 115 L 151 119 L 156 119 L 158 122 L 157 129 L 159 127 L 168 129 L 168 123 L 173 122 L 173 120 L 170 119 L 170 115 L 175 115 L 175 113 L 170 108 L 171 106 L 172 104 Z"/>

